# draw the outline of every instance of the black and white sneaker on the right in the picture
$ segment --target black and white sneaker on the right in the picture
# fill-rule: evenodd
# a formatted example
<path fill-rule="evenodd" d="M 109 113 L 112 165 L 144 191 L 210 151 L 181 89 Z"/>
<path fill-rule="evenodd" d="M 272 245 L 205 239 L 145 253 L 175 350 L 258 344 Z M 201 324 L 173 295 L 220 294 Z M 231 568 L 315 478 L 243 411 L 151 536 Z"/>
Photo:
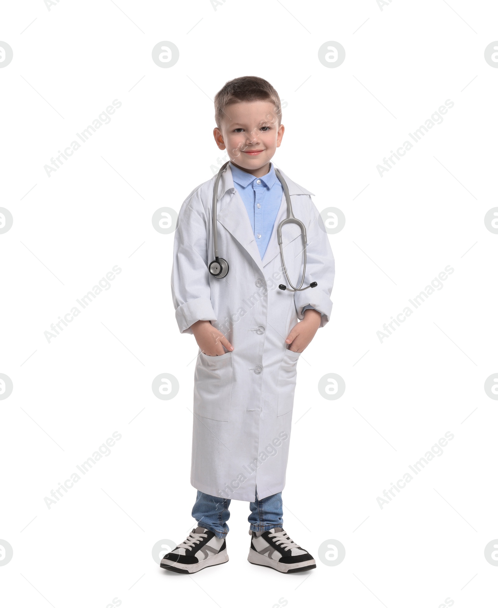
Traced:
<path fill-rule="evenodd" d="M 317 567 L 312 556 L 296 544 L 282 528 L 267 532 L 251 532 L 248 561 L 268 566 L 278 572 L 303 572 Z"/>

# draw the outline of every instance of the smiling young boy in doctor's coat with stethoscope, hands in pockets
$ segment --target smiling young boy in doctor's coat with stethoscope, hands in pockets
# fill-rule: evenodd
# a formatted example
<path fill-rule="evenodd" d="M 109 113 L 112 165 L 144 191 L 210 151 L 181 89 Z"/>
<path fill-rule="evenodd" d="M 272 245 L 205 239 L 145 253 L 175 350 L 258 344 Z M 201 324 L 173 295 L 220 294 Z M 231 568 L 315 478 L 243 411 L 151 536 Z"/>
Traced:
<path fill-rule="evenodd" d="M 329 321 L 334 257 L 312 193 L 281 172 L 307 236 L 305 249 L 300 227 L 282 226 L 282 262 L 277 228 L 287 218 L 287 198 L 270 160 L 284 125 L 273 86 L 235 78 L 214 105 L 214 139 L 230 157 L 217 185 L 217 243 L 213 178 L 181 206 L 171 278 L 180 332 L 194 334 L 199 347 L 191 469 L 198 527 L 161 567 L 193 573 L 228 561 L 234 499 L 250 503 L 248 560 L 300 572 L 316 564 L 284 531 L 281 492 L 296 366 Z"/>

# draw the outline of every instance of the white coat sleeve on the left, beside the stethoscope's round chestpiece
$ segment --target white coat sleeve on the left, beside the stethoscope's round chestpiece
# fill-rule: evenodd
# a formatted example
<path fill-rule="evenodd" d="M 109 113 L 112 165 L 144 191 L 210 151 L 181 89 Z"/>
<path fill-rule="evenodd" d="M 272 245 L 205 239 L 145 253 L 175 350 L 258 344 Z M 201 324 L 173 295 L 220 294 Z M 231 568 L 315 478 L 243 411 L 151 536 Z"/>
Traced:
<path fill-rule="evenodd" d="M 191 325 L 196 321 L 217 320 L 208 277 L 207 221 L 195 192 L 180 208 L 173 247 L 171 292 L 182 334 L 192 334 Z"/>

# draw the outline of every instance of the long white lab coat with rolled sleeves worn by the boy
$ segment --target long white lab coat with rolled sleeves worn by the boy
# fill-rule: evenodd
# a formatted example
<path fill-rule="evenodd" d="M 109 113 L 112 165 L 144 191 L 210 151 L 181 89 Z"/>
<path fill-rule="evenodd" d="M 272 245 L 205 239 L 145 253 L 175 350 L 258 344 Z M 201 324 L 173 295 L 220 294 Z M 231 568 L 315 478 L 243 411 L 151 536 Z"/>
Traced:
<path fill-rule="evenodd" d="M 303 319 L 303 306 L 329 321 L 334 257 L 323 221 L 310 195 L 281 171 L 293 213 L 307 230 L 306 291 L 282 291 L 287 285 L 276 228 L 287 216 L 285 195 L 263 259 L 244 202 L 234 187 L 230 165 L 222 174 L 217 203 L 218 252 L 228 261 L 224 278 L 212 277 L 212 192 L 215 177 L 183 202 L 175 232 L 171 287 L 181 333 L 196 321 L 209 320 L 234 350 L 208 356 L 199 349 L 194 375 L 194 430 L 191 483 L 223 498 L 253 501 L 284 489 L 290 426 L 300 353 L 286 337 Z M 321 226 L 321 227 L 320 227 Z M 287 272 L 298 285 L 303 241 L 298 226 L 282 228 Z M 317 399 L 310 387 L 311 399 Z"/>

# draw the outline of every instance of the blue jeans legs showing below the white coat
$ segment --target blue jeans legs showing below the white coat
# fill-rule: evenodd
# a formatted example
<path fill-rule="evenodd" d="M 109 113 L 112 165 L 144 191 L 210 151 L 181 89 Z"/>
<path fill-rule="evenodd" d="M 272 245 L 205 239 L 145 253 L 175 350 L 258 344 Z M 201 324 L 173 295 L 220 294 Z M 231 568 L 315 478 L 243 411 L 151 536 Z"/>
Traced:
<path fill-rule="evenodd" d="M 251 510 L 247 518 L 250 523 L 249 529 L 254 532 L 265 532 L 272 528 L 282 528 L 284 525 L 282 516 L 282 492 L 267 496 L 262 500 L 254 497 L 254 502 L 249 503 Z M 226 522 L 230 518 L 230 499 L 211 496 L 197 490 L 197 500 L 192 509 L 192 517 L 200 526 L 214 532 L 218 538 L 225 538 L 228 534 Z"/>

